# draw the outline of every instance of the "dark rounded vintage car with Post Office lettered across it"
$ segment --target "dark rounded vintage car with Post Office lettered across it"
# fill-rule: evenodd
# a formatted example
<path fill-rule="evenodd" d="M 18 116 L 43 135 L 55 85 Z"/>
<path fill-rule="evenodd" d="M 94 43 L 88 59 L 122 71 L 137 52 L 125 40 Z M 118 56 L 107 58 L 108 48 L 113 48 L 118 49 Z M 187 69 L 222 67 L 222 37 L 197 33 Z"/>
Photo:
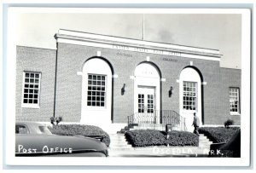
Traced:
<path fill-rule="evenodd" d="M 56 136 L 48 126 L 34 122 L 15 124 L 15 156 L 108 157 L 108 148 L 85 136 Z"/>

